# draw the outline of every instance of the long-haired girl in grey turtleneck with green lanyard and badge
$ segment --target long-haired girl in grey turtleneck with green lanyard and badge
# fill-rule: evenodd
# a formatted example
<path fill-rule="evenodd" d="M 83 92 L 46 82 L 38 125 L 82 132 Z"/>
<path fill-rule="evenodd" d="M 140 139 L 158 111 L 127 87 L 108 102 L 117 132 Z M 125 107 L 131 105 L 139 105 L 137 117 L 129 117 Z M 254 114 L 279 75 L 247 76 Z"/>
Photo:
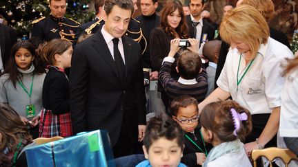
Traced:
<path fill-rule="evenodd" d="M 38 136 L 45 73 L 33 45 L 29 41 L 19 41 L 12 46 L 10 59 L 0 77 L 0 101 L 10 104 L 19 113 L 21 120 L 30 125 L 34 138 Z"/>

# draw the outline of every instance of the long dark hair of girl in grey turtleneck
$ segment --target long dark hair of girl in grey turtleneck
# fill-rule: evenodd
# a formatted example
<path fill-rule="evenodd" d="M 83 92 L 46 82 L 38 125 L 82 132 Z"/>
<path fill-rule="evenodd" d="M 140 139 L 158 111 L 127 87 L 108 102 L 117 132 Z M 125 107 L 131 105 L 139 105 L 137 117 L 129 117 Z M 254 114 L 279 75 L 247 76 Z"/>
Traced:
<path fill-rule="evenodd" d="M 9 74 L 9 78 L 6 81 L 11 80 L 14 88 L 16 88 L 17 80 L 19 80 L 19 78 L 20 79 L 23 78 L 23 74 L 21 74 L 21 72 L 19 72 L 19 70 L 17 69 L 17 63 L 15 62 L 15 58 L 14 58 L 15 54 L 21 47 L 28 49 L 28 51 L 34 57 L 34 60 L 32 61 L 34 65 L 33 74 L 46 73 L 46 67 L 44 67 L 43 62 L 41 61 L 41 58 L 37 56 L 32 43 L 30 43 L 28 40 L 18 41 L 17 43 L 14 43 L 14 45 L 12 46 L 10 58 L 8 60 L 8 63 L 4 67 L 4 72 L 3 72 L 3 74 Z"/>

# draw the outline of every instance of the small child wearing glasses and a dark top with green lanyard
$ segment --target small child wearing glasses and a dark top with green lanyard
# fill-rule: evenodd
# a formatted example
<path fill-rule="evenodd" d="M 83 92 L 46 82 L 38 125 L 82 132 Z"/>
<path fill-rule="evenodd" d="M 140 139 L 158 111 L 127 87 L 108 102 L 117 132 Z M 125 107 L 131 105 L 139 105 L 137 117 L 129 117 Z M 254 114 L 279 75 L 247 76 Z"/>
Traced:
<path fill-rule="evenodd" d="M 187 166 L 201 166 L 212 148 L 205 144 L 199 126 L 198 102 L 190 96 L 179 96 L 170 105 L 170 114 L 185 132 L 183 157 L 181 162 Z"/>

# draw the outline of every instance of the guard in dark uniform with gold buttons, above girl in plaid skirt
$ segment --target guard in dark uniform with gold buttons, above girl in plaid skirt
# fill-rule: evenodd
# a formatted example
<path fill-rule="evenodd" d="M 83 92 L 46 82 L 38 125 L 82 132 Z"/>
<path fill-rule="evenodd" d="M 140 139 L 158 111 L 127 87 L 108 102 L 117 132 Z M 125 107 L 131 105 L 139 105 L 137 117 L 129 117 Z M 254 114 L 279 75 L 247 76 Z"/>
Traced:
<path fill-rule="evenodd" d="M 64 16 L 67 7 L 66 0 L 50 0 L 49 6 L 50 16 L 32 21 L 32 24 L 34 24 L 32 37 L 38 37 L 44 41 L 63 38 L 75 43 L 75 34 L 80 24 Z"/>

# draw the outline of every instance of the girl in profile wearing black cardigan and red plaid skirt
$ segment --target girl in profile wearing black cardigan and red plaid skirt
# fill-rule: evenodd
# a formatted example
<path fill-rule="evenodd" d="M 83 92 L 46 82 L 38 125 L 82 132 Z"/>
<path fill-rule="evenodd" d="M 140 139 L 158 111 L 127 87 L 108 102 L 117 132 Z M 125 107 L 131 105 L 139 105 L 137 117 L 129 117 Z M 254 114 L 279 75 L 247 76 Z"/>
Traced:
<path fill-rule="evenodd" d="M 39 54 L 48 64 L 43 82 L 43 110 L 39 124 L 39 137 L 68 137 L 72 135 L 68 77 L 64 69 L 70 67 L 72 44 L 53 39 L 41 45 Z"/>

